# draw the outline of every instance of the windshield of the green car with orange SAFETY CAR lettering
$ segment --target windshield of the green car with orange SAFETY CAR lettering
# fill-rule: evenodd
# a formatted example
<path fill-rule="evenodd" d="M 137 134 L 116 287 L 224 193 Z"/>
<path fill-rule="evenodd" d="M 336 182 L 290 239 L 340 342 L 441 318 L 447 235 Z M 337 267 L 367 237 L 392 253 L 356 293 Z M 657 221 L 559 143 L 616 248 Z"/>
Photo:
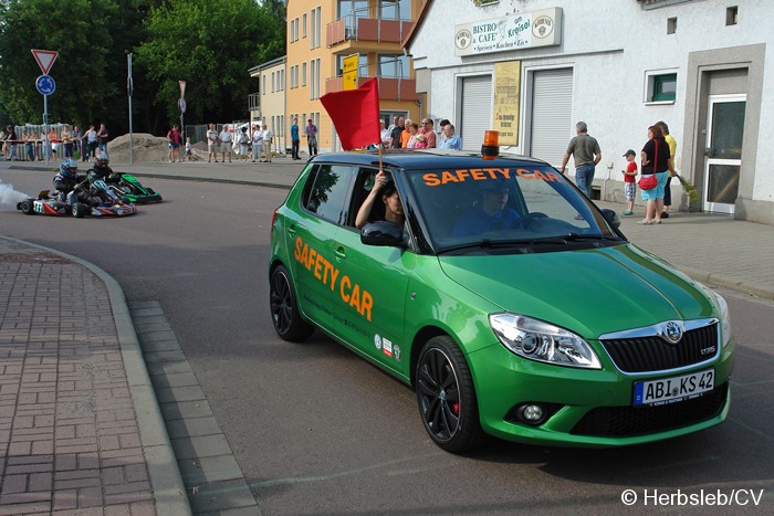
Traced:
<path fill-rule="evenodd" d="M 567 177 L 545 165 L 409 171 L 438 252 L 620 241 Z"/>

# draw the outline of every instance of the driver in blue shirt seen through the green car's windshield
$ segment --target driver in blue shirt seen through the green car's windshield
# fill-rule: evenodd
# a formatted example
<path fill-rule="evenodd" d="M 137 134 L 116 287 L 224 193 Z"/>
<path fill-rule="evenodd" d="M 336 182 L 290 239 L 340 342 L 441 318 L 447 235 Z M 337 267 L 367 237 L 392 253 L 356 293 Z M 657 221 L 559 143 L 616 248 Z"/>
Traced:
<path fill-rule="evenodd" d="M 508 182 L 499 179 L 481 181 L 480 192 L 481 202 L 457 221 L 454 236 L 509 230 L 519 223 L 519 213 L 508 208 Z"/>

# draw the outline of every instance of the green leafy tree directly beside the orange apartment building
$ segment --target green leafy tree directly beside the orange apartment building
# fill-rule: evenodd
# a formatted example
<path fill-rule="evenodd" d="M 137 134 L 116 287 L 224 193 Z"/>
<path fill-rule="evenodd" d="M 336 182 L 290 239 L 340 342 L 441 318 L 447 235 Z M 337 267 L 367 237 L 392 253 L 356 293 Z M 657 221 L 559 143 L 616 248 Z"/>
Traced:
<path fill-rule="evenodd" d="M 163 122 L 179 116 L 178 81 L 186 81 L 187 118 L 245 118 L 248 70 L 284 53 L 284 6 L 278 12 L 276 1 L 169 0 L 153 9 L 137 62 L 157 86 Z"/>

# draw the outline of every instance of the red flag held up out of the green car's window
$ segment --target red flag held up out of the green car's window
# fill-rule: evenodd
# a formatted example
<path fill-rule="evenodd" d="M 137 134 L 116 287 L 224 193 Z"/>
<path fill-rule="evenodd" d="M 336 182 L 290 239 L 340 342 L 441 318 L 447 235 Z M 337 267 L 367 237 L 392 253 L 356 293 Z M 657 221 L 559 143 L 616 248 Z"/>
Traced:
<path fill-rule="evenodd" d="M 327 93 L 320 97 L 336 127 L 344 150 L 381 141 L 379 86 L 376 77 L 357 89 Z"/>

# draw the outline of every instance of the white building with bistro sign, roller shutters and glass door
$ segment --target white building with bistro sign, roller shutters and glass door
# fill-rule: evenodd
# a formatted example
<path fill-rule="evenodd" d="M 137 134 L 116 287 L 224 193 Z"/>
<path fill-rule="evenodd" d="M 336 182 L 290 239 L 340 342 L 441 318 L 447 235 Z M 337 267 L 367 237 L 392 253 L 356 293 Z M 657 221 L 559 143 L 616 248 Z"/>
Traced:
<path fill-rule="evenodd" d="M 692 210 L 774 224 L 774 2 L 732 3 L 428 0 L 404 43 L 423 114 L 449 118 L 466 148 L 494 128 L 558 167 L 586 122 L 603 152 L 595 193 L 620 201 L 621 155 L 663 120 Z M 688 209 L 677 179 L 672 192 Z"/>

